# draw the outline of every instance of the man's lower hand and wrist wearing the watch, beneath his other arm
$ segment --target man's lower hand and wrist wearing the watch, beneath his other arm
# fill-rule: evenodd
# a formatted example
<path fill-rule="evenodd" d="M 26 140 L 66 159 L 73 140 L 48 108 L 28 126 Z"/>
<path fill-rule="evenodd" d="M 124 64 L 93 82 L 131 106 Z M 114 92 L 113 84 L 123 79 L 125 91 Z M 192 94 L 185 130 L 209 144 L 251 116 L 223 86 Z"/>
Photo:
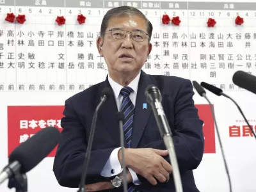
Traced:
<path fill-rule="evenodd" d="M 129 172 L 129 170 L 126 171 L 127 172 L 127 184 L 129 184 L 130 182 L 132 182 L 132 175 Z M 124 180 L 124 172 L 120 173 L 119 177 L 121 179 Z M 85 186 L 86 191 L 91 192 L 91 191 L 101 191 L 101 190 L 106 190 L 106 189 L 111 189 L 114 188 L 111 184 L 110 181 L 104 181 L 104 182 L 96 182 L 93 184 L 89 184 Z"/>

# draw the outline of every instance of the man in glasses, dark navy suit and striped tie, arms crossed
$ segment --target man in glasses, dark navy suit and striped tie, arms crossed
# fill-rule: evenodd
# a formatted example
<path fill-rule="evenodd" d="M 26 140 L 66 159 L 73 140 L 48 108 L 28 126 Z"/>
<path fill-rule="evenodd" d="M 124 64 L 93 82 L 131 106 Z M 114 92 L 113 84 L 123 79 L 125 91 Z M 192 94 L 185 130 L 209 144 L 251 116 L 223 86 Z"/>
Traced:
<path fill-rule="evenodd" d="M 198 191 L 192 170 L 202 160 L 204 135 L 192 99 L 193 87 L 187 79 L 152 76 L 141 70 L 152 50 L 151 35 L 152 24 L 136 8 L 113 8 L 104 16 L 97 48 L 109 75 L 106 81 L 65 102 L 63 131 L 53 168 L 61 186 L 79 186 L 93 113 L 102 90 L 109 87 L 113 95 L 99 110 L 84 181 L 87 191 L 123 191 L 117 111 L 125 115 L 128 191 L 175 191 L 168 151 L 144 95 L 145 88 L 154 84 L 162 94 L 164 113 L 173 132 L 183 191 Z"/>

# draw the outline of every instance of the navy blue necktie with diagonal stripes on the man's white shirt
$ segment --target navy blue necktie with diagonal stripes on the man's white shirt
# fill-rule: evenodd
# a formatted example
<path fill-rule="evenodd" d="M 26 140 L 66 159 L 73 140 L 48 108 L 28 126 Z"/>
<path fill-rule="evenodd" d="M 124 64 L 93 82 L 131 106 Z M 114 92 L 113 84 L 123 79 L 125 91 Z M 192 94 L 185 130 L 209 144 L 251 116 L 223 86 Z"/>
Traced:
<path fill-rule="evenodd" d="M 127 142 L 128 147 L 131 146 L 131 136 L 132 136 L 132 122 L 134 117 L 134 105 L 130 99 L 130 94 L 132 88 L 129 86 L 122 88 L 120 94 L 123 96 L 120 111 L 124 113 L 124 137 Z M 134 184 L 128 184 L 128 192 L 135 192 Z"/>

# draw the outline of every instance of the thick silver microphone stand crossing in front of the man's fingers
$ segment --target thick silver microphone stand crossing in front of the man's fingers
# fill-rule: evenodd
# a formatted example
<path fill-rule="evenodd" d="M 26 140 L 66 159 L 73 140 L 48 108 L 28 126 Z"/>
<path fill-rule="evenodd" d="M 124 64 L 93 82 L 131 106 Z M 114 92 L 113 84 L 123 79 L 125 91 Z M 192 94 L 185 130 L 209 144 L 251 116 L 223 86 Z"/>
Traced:
<path fill-rule="evenodd" d="M 151 103 L 153 104 L 153 103 Z M 152 108 L 154 115 L 155 116 L 159 116 L 161 118 L 161 121 L 159 120 L 159 118 L 156 118 L 156 122 L 159 128 L 159 131 L 161 133 L 161 136 L 163 137 L 164 140 L 164 145 L 166 147 L 166 149 L 169 152 L 169 157 L 170 157 L 170 161 L 173 167 L 173 179 L 174 179 L 174 184 L 175 184 L 175 189 L 176 192 L 182 192 L 182 182 L 180 179 L 180 171 L 179 171 L 179 164 L 177 161 L 177 156 L 175 153 L 175 148 L 174 148 L 174 144 L 173 144 L 173 140 L 172 140 L 172 132 L 170 129 L 170 126 L 168 124 L 168 121 L 166 119 L 166 116 L 164 115 L 164 111 L 163 111 L 163 107 L 161 106 L 161 102 L 159 102 L 158 99 L 156 99 L 156 102 L 154 102 L 154 104 L 156 105 L 156 108 Z M 163 127 L 164 132 L 162 131 L 162 129 L 160 127 Z"/>

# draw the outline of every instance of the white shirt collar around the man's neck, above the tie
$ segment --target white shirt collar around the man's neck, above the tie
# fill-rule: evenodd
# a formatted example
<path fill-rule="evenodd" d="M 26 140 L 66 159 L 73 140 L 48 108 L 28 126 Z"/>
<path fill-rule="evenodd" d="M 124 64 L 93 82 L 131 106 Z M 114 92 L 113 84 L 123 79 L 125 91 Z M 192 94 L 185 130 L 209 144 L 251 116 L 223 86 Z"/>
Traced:
<path fill-rule="evenodd" d="M 137 91 L 138 91 L 138 84 L 139 84 L 139 81 L 140 81 L 140 74 L 141 74 L 141 72 L 138 74 L 138 76 L 136 76 L 131 81 L 131 83 L 128 84 L 128 86 L 132 88 L 134 93 L 137 93 Z M 111 88 L 113 89 L 113 91 L 115 93 L 115 97 L 117 99 L 119 94 L 120 94 L 120 91 L 123 88 L 123 86 L 121 84 L 118 84 L 115 81 L 113 81 L 113 79 L 111 79 L 111 77 L 109 77 L 109 76 L 108 76 L 108 81 L 109 81 L 109 84 L 110 84 Z"/>

